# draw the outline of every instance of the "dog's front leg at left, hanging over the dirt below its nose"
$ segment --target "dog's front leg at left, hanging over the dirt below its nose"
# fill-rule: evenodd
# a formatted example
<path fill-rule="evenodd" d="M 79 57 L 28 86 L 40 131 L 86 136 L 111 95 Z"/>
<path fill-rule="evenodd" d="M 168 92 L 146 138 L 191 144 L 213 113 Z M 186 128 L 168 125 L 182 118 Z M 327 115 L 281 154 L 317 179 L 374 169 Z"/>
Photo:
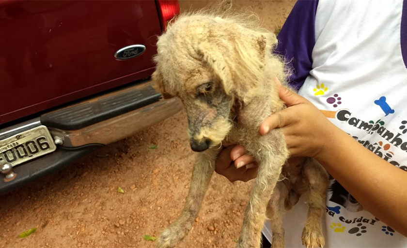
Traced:
<path fill-rule="evenodd" d="M 191 230 L 192 222 L 198 215 L 203 197 L 215 171 L 215 160 L 219 151 L 209 149 L 198 153 L 192 171 L 189 192 L 184 210 L 172 224 L 157 238 L 156 248 L 172 248 Z"/>

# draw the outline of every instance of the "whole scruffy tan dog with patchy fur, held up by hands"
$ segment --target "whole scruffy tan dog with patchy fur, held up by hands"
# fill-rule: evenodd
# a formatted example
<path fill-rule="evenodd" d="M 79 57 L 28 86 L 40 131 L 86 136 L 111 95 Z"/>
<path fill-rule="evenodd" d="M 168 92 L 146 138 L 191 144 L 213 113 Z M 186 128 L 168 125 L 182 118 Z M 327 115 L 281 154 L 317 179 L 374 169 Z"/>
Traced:
<path fill-rule="evenodd" d="M 174 247 L 191 229 L 222 141 L 244 146 L 259 165 L 237 247 L 260 247 L 266 217 L 272 223 L 272 246 L 284 247 L 280 205 L 290 209 L 304 193 L 309 194 L 309 212 L 302 242 L 306 247 L 325 243 L 321 217 L 327 172 L 310 158 L 287 162 L 289 153 L 281 130 L 264 136 L 259 133 L 266 117 L 285 107 L 274 80 L 286 85 L 287 73 L 282 58 L 271 53 L 276 36 L 259 28 L 251 17 L 232 11 L 184 14 L 158 39 L 155 87 L 163 98 L 182 100 L 190 146 L 199 153 L 184 210 L 158 237 L 157 248 Z"/>

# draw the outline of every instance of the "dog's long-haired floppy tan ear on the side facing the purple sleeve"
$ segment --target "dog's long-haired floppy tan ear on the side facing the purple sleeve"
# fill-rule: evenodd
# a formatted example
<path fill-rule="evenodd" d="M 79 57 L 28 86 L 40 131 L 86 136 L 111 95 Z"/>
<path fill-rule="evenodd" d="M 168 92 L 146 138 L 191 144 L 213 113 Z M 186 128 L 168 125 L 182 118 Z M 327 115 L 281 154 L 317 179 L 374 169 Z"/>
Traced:
<path fill-rule="evenodd" d="M 265 58 L 267 53 L 271 53 L 271 47 L 277 39 L 272 33 L 243 28 L 226 33 L 234 35 L 214 44 L 205 41 L 196 52 L 219 77 L 226 94 L 249 102 L 258 93 L 259 82 L 265 74 Z"/>

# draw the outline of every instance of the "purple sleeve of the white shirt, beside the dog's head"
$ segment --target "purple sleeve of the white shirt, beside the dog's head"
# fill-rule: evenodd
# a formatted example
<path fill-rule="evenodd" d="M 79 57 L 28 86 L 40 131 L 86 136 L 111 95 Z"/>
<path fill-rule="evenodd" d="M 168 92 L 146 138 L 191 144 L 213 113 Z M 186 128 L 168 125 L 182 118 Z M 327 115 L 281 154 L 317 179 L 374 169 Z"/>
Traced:
<path fill-rule="evenodd" d="M 288 15 L 277 38 L 276 54 L 289 62 L 291 87 L 298 90 L 312 70 L 315 45 L 315 14 L 318 0 L 298 0 Z"/>

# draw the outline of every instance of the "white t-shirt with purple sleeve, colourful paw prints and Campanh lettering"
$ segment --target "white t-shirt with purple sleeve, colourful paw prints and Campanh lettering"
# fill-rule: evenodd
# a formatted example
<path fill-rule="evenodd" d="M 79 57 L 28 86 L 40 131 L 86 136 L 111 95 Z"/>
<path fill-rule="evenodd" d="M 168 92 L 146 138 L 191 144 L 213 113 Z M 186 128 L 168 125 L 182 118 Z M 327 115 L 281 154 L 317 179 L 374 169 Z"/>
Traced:
<path fill-rule="evenodd" d="M 292 84 L 333 124 L 407 173 L 407 6 L 401 0 L 311 2 L 299 0 L 279 34 L 287 42 L 280 53 L 294 58 Z M 285 214 L 286 247 L 303 247 L 306 201 L 302 196 Z M 405 236 L 334 179 L 322 222 L 326 248 L 407 248 Z M 271 242 L 270 232 L 266 221 L 263 233 Z"/>

